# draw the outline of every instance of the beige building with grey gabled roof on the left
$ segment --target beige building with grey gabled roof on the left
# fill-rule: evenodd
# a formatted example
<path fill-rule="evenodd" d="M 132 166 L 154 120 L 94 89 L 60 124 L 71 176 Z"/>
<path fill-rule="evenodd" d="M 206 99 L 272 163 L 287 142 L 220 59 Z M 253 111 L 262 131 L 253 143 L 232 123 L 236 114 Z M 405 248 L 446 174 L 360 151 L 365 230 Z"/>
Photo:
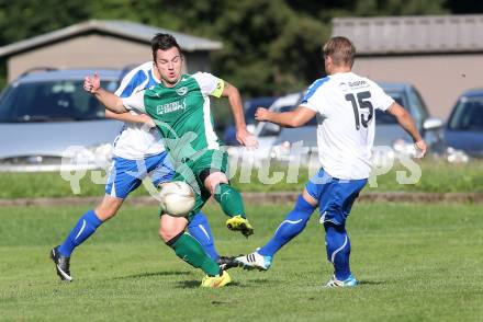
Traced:
<path fill-rule="evenodd" d="M 26 70 L 48 68 L 123 68 L 153 59 L 150 38 L 172 34 L 187 58 L 187 71 L 210 71 L 209 55 L 220 42 L 127 21 L 91 20 L 0 47 L 8 80 Z"/>

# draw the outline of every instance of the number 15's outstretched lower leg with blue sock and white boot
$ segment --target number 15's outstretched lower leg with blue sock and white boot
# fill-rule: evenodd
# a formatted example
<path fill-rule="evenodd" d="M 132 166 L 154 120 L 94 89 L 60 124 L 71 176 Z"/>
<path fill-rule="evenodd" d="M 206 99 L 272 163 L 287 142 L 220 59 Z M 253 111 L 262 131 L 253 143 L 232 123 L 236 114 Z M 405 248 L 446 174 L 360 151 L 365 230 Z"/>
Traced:
<path fill-rule="evenodd" d="M 314 209 L 315 206 L 308 204 L 303 196 L 300 195 L 295 207 L 277 228 L 271 240 L 254 253 L 246 256 L 238 256 L 236 260 L 242 263 L 245 268 L 267 271 L 271 265 L 273 255 L 304 230 Z"/>

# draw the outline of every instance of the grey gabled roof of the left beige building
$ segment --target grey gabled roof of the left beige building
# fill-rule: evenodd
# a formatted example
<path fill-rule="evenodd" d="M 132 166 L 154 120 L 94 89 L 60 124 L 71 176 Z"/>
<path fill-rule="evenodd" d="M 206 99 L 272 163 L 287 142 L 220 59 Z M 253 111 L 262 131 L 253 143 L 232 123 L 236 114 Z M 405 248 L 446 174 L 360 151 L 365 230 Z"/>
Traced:
<path fill-rule="evenodd" d="M 184 51 L 216 50 L 223 47 L 223 44 L 220 42 L 195 37 L 141 23 L 130 21 L 90 20 L 58 31 L 54 31 L 33 38 L 0 47 L 0 57 L 11 56 L 16 53 L 31 50 L 35 47 L 56 43 L 80 34 L 96 32 L 101 34 L 111 34 L 113 36 L 128 38 L 147 44 L 150 43 L 150 39 L 155 34 L 168 33 L 176 37 L 178 44 Z"/>

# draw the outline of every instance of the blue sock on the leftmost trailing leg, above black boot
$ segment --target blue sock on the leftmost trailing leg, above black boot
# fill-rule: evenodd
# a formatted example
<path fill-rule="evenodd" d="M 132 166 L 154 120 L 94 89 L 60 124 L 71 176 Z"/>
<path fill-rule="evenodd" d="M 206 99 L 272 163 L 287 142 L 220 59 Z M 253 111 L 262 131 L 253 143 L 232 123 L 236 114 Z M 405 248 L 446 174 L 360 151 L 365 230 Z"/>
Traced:
<path fill-rule="evenodd" d="M 96 229 L 98 229 L 102 221 L 98 218 L 98 216 L 96 216 L 93 210 L 89 210 L 83 214 L 79 221 L 77 221 L 76 227 L 74 227 L 69 235 L 60 245 L 60 254 L 63 254 L 63 256 L 70 257 L 74 249 L 80 245 L 92 233 L 94 233 Z"/>

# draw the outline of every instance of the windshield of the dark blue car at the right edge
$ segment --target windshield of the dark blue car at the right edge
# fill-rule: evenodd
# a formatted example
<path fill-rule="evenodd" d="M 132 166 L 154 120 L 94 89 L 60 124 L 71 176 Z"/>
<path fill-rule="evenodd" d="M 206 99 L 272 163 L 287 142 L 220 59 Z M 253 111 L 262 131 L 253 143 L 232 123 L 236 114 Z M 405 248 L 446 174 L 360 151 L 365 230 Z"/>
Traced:
<path fill-rule="evenodd" d="M 483 96 L 462 97 L 448 122 L 454 130 L 483 130 Z"/>

